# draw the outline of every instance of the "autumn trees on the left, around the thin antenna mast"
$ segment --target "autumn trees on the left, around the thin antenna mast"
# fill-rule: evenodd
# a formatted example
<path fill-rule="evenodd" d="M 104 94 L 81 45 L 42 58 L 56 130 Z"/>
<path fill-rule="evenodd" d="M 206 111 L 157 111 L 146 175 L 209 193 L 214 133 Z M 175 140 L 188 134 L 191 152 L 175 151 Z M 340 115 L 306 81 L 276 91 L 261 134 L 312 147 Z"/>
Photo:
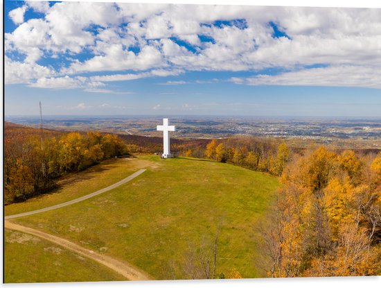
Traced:
<path fill-rule="evenodd" d="M 55 180 L 72 171 L 82 171 L 101 160 L 127 155 L 127 146 L 116 135 L 96 132 L 36 133 L 4 139 L 4 203 L 51 191 Z"/>

